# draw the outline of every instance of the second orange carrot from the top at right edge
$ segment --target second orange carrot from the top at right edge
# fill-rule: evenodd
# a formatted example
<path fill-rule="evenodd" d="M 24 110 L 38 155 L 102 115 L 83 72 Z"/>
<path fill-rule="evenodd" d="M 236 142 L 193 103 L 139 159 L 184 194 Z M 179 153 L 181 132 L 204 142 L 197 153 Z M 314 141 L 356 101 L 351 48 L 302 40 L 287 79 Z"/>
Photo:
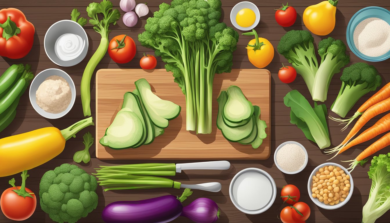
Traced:
<path fill-rule="evenodd" d="M 355 136 L 359 130 L 372 118 L 377 116 L 378 114 L 381 114 L 383 112 L 390 110 L 390 98 L 386 98 L 385 100 L 376 103 L 375 105 L 372 105 L 367 109 L 363 115 L 356 121 L 355 125 L 351 129 L 351 131 L 348 133 L 347 137 L 340 143 L 340 145 L 336 146 L 335 148 L 332 148 L 330 150 L 327 150 L 329 153 L 333 153 L 335 151 L 338 151 L 339 148 L 344 147 L 349 140 L 352 139 L 353 136 Z"/>

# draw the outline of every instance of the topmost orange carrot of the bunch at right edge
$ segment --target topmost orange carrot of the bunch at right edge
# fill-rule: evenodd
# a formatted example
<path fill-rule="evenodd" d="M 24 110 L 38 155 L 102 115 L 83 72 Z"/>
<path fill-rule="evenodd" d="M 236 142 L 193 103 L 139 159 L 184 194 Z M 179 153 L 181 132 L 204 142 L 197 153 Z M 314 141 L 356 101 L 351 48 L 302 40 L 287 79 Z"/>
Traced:
<path fill-rule="evenodd" d="M 347 123 L 346 126 L 342 128 L 342 131 L 344 131 L 355 118 L 363 114 L 363 112 L 369 109 L 369 107 L 385 100 L 386 98 L 390 98 L 390 82 L 387 83 L 385 86 L 383 86 L 374 95 L 372 95 L 371 98 L 369 98 L 366 102 L 364 102 L 352 117 L 346 119 L 339 119 L 339 118 L 333 118 L 332 116 L 329 116 L 329 118 L 332 119 L 333 121 L 341 122 L 342 124 Z"/>

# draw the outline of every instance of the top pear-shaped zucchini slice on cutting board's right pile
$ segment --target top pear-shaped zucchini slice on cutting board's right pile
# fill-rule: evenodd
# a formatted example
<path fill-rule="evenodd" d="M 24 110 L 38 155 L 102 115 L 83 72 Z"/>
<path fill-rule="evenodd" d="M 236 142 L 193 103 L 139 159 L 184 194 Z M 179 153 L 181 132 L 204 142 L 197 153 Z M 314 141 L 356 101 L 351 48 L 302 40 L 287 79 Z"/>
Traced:
<path fill-rule="evenodd" d="M 253 115 L 254 108 L 252 103 L 246 100 L 241 89 L 237 86 L 230 86 L 227 89 L 227 95 L 227 102 L 222 112 L 225 120 L 233 123 L 249 120 Z"/>

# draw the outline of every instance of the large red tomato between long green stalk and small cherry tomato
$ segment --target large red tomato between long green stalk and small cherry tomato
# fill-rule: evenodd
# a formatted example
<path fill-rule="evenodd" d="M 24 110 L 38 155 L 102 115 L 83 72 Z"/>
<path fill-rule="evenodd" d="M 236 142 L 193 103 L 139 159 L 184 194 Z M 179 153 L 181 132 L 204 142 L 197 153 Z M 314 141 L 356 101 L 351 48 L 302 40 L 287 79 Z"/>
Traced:
<path fill-rule="evenodd" d="M 136 51 L 137 48 L 133 38 L 127 35 L 113 37 L 108 45 L 108 54 L 113 61 L 119 64 L 130 62 L 134 58 Z"/>

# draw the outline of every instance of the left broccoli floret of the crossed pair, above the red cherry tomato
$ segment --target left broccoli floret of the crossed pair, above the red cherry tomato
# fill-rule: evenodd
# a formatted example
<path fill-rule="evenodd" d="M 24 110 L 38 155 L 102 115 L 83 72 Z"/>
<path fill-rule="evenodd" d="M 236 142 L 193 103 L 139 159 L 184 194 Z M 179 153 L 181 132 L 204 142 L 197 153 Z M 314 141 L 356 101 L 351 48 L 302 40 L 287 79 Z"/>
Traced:
<path fill-rule="evenodd" d="M 310 32 L 291 30 L 284 34 L 277 47 L 279 54 L 282 54 L 303 77 L 311 95 L 318 70 L 313 42 L 314 38 Z"/>

